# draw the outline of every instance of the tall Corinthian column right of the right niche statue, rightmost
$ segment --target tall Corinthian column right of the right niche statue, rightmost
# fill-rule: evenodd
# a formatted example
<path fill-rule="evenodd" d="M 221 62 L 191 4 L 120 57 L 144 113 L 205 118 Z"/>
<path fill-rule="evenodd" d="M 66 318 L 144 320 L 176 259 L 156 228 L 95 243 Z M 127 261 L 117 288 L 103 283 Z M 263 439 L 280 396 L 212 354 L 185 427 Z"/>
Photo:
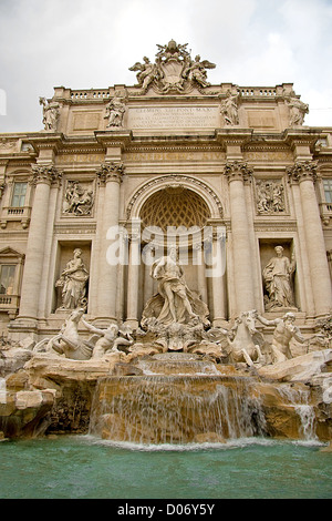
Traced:
<path fill-rule="evenodd" d="M 315 163 L 312 161 L 298 162 L 288 173 L 293 181 L 299 183 L 300 187 L 315 314 L 325 315 L 332 309 L 332 290 L 326 247 L 314 190 Z"/>

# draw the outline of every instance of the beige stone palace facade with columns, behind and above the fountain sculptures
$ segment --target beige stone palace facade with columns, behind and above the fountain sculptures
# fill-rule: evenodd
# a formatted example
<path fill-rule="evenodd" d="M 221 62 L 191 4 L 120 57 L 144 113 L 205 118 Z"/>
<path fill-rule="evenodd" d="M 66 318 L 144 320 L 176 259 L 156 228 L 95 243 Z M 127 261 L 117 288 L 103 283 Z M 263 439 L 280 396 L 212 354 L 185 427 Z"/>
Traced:
<path fill-rule="evenodd" d="M 170 243 L 211 325 L 331 313 L 332 127 L 305 126 L 290 83 L 211 85 L 215 64 L 158 49 L 133 86 L 55 88 L 43 130 L 1 135 L 4 336 L 54 335 L 77 306 L 138 327 Z"/>

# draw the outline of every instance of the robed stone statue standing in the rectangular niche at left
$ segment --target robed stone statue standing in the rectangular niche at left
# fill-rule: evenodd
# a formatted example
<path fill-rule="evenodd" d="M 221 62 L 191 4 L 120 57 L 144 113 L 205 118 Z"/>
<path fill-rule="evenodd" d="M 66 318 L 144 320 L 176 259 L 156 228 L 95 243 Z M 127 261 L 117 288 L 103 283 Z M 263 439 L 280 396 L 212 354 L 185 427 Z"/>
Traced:
<path fill-rule="evenodd" d="M 60 309 L 75 309 L 86 304 L 89 273 L 82 259 L 82 251 L 74 249 L 74 257 L 66 264 L 55 287 L 61 287 L 62 305 Z"/>

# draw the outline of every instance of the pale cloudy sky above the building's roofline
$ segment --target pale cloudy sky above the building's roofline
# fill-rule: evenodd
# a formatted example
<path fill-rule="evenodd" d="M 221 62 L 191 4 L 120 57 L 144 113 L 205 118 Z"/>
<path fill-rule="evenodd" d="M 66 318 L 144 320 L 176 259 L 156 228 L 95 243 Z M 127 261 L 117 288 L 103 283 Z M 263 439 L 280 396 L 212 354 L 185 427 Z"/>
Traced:
<path fill-rule="evenodd" d="M 293 83 L 304 124 L 332 126 L 332 0 L 0 0 L 0 132 L 42 130 L 54 86 L 134 85 L 172 39 L 210 83 Z"/>

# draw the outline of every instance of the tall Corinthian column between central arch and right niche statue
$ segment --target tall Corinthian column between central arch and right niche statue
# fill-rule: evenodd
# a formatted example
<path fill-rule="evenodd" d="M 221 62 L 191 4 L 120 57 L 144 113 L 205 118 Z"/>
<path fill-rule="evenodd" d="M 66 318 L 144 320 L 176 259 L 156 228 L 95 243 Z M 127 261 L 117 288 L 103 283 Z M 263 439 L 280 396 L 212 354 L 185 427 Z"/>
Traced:
<path fill-rule="evenodd" d="M 252 309 L 255 305 L 253 270 L 251 266 L 250 234 L 246 207 L 245 181 L 251 175 L 245 163 L 234 161 L 225 167 L 229 183 L 232 233 L 234 288 L 236 314 Z"/>

